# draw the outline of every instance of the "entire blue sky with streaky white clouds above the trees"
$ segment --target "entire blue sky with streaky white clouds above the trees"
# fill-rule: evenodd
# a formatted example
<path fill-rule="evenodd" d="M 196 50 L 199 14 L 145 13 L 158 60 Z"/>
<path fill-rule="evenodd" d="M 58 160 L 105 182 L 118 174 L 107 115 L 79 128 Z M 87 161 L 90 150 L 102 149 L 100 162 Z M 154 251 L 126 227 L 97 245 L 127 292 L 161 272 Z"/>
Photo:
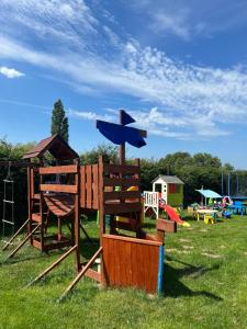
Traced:
<path fill-rule="evenodd" d="M 246 168 L 247 1 L 1 0 L 0 24 L 0 138 L 47 137 L 61 99 L 77 151 L 125 109 L 148 131 L 130 156 Z"/>

